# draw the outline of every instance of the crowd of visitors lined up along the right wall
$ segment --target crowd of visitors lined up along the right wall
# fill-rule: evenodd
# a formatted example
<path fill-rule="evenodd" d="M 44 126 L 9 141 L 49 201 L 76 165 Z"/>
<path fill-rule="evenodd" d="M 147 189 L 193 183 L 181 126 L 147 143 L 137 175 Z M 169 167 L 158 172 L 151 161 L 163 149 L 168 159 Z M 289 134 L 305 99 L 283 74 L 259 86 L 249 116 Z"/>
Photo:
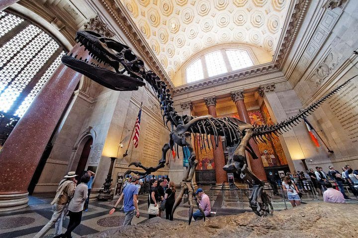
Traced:
<path fill-rule="evenodd" d="M 286 176 L 278 181 L 272 172 L 269 172 L 268 181 L 275 195 L 278 195 L 277 185 L 282 184 L 282 189 L 293 207 L 301 204 L 302 193 L 313 189 L 323 196 L 325 202 L 350 200 L 345 187 L 348 187 L 358 198 L 358 171 L 353 170 L 349 165 L 343 167 L 342 172 L 337 171 L 333 166 L 329 166 L 327 172 L 324 172 L 322 167 L 317 166 L 315 169 L 315 171 L 309 169 L 306 172 L 286 173 Z"/>

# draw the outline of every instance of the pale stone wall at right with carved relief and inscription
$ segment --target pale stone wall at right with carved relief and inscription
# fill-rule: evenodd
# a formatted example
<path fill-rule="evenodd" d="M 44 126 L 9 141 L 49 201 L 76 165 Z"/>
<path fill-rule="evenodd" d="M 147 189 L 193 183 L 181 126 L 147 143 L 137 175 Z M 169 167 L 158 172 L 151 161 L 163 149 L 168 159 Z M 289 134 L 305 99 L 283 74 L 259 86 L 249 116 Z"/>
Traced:
<path fill-rule="evenodd" d="M 324 1 L 311 3 L 305 25 L 284 67 L 284 74 L 294 86 L 304 107 L 316 101 L 348 78 L 358 74 L 358 2 L 343 1 L 340 7 L 325 7 Z M 341 170 L 350 164 L 358 168 L 356 87 L 354 79 L 339 94 L 327 100 L 312 116 L 308 117 L 322 141 L 321 147 L 302 143 L 302 152 L 309 167 L 329 165 Z M 311 161 L 310 161 L 311 160 Z"/>

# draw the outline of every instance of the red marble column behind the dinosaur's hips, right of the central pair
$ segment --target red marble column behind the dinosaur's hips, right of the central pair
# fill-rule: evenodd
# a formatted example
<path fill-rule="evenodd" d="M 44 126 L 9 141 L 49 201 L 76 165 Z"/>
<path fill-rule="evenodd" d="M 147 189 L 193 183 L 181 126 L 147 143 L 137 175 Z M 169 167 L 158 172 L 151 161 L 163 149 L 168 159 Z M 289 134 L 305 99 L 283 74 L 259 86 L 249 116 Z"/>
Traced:
<path fill-rule="evenodd" d="M 239 118 L 242 121 L 245 121 L 247 123 L 250 123 L 249 114 L 247 112 L 245 103 L 244 103 L 244 91 L 236 91 L 231 92 L 231 99 L 236 104 L 236 108 L 239 114 Z M 258 159 L 253 159 L 252 156 L 249 153 L 247 154 L 248 159 L 250 160 L 251 170 L 252 172 L 262 180 L 267 180 L 264 164 L 261 160 L 260 151 L 258 145 L 255 143 L 254 139 L 251 139 L 249 141 L 251 147 L 254 149 L 255 154 L 259 157 Z"/>

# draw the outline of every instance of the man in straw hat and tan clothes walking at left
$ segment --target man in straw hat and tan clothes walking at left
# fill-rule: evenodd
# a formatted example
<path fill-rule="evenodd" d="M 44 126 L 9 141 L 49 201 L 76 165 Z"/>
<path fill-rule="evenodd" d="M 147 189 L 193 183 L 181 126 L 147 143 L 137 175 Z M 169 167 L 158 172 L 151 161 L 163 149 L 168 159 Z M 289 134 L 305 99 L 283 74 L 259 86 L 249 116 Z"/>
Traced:
<path fill-rule="evenodd" d="M 77 180 L 75 179 L 76 176 L 76 172 L 69 172 L 64 176 L 64 179 L 61 180 L 56 191 L 56 196 L 51 202 L 53 215 L 50 221 L 34 236 L 34 238 L 43 237 L 51 229 L 53 224 L 55 224 L 55 237 L 62 234 L 62 213 L 75 193 L 77 183 Z"/>

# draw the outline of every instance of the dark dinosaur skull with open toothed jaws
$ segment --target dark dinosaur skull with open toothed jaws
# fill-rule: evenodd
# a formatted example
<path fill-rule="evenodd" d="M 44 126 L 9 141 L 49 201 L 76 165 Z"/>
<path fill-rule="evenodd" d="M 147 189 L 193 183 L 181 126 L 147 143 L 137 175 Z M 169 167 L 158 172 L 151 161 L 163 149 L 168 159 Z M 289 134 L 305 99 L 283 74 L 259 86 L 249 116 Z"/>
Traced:
<path fill-rule="evenodd" d="M 76 40 L 89 51 L 96 63 L 77 59 L 71 54 L 62 57 L 65 65 L 113 90 L 138 90 L 145 85 L 144 63 L 127 46 L 92 31 L 77 32 Z M 105 64 L 109 66 L 105 67 Z"/>

